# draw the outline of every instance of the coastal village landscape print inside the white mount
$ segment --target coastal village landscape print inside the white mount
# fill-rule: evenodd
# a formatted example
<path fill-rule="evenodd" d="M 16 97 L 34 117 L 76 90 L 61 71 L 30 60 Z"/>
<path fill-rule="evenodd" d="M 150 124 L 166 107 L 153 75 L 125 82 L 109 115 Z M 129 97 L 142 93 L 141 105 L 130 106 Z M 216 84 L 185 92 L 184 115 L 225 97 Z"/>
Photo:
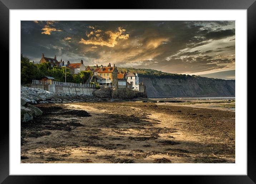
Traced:
<path fill-rule="evenodd" d="M 235 163 L 235 21 L 21 21 L 21 163 Z"/>

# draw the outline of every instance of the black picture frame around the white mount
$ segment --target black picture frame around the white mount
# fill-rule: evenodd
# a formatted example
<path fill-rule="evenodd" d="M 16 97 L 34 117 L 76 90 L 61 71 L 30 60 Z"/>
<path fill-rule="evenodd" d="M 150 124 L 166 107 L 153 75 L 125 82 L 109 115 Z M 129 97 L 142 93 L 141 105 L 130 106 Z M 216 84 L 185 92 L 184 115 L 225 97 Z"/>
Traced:
<path fill-rule="evenodd" d="M 246 9 L 247 10 L 247 60 L 254 61 L 253 46 L 256 45 L 256 0 L 139 0 L 127 1 L 79 1 L 79 0 L 0 0 L 0 37 L 4 62 L 9 61 L 9 10 L 10 9 Z M 10 61 L 9 61 L 10 62 Z M 245 64 L 246 61 L 245 61 Z M 10 63 L 9 63 L 10 65 Z M 10 67 L 9 67 L 10 68 Z M 247 67 L 248 68 L 248 67 Z M 247 71 L 247 73 L 250 72 Z M 248 78 L 248 75 L 247 75 Z M 249 78 L 248 78 L 249 80 Z M 253 83 L 252 83 L 253 84 Z M 7 87 L 6 87 L 7 89 Z M 9 89 L 9 88 L 8 88 Z M 248 95 L 250 95 L 248 93 Z M 9 96 L 10 98 L 10 96 Z M 245 107 L 247 108 L 247 107 Z M 248 114 L 248 112 L 247 112 Z M 5 121 L 6 122 L 6 121 Z M 4 124 L 4 122 L 1 122 Z M 247 123 L 247 122 L 240 122 Z M 0 139 L 0 182 L 3 183 L 52 183 L 58 177 L 59 182 L 66 176 L 21 176 L 9 175 L 9 125 L 1 128 Z M 247 175 L 211 175 L 211 176 L 171 176 L 180 181 L 191 183 L 256 183 L 256 149 L 253 136 L 253 121 L 247 123 Z M 88 177 L 88 176 L 86 176 Z M 79 177 L 80 178 L 80 177 Z M 149 179 L 151 177 L 148 177 Z M 89 181 L 90 178 L 87 178 Z M 127 182 L 129 180 L 122 179 Z M 72 182 L 75 180 L 72 179 Z M 111 180 L 113 181 L 113 180 Z M 131 180 L 130 180 L 131 181 Z M 119 181 L 120 182 L 120 181 Z M 97 182 L 98 183 L 98 182 Z"/>

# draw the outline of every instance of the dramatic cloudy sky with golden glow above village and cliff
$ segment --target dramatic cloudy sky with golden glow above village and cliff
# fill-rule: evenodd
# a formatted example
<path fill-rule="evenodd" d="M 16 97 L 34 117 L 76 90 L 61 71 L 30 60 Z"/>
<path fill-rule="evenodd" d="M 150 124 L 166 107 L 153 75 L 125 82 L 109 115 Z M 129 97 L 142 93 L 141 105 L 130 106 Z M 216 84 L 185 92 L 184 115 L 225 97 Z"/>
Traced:
<path fill-rule="evenodd" d="M 235 79 L 235 21 L 21 21 L 21 53 Z"/>

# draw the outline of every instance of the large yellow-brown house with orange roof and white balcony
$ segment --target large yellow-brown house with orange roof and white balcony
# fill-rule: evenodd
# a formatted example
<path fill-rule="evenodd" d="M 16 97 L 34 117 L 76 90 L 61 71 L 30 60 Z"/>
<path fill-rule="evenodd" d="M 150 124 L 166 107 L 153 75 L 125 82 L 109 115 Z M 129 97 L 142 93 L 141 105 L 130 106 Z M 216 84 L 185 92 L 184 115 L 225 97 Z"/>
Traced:
<path fill-rule="evenodd" d="M 117 87 L 118 83 L 117 83 L 117 67 L 115 66 L 111 66 L 111 64 L 109 63 L 109 65 L 107 67 L 103 67 L 102 65 L 100 67 L 98 67 L 99 69 L 94 70 L 97 71 L 97 75 L 95 76 L 95 78 L 97 78 L 97 82 L 99 83 L 99 85 L 102 86 L 108 86 L 108 87 Z"/>

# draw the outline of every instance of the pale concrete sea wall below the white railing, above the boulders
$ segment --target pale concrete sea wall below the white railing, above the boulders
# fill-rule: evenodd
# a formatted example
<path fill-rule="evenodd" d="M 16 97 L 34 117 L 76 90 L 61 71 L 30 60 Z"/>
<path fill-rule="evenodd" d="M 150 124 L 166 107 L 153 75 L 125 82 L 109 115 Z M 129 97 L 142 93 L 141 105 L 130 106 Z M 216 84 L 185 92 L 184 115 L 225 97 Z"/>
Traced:
<path fill-rule="evenodd" d="M 89 96 L 92 96 L 92 93 L 95 90 L 93 88 L 59 86 L 59 85 L 41 85 L 41 84 L 32 84 L 32 87 L 40 88 L 56 94 L 86 94 Z"/>

